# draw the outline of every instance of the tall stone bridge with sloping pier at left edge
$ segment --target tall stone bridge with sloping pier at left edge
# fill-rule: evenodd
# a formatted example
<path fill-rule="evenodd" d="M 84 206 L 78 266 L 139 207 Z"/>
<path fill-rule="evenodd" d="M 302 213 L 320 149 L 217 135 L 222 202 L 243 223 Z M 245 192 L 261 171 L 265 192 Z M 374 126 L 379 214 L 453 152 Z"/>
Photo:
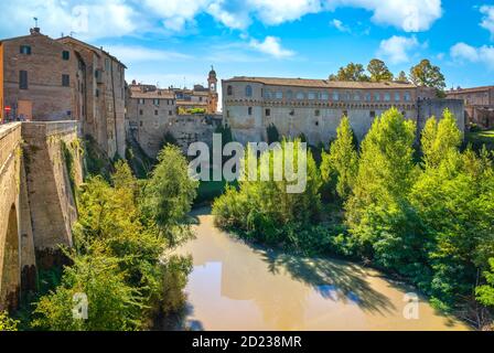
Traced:
<path fill-rule="evenodd" d="M 0 311 L 36 287 L 37 269 L 61 265 L 72 245 L 82 182 L 76 121 L 0 126 Z"/>

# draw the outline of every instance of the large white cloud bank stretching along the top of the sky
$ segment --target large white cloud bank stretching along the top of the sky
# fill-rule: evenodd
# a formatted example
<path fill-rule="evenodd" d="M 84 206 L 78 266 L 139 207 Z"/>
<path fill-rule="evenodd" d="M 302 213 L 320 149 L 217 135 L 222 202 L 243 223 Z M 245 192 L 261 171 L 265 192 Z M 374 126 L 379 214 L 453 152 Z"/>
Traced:
<path fill-rule="evenodd" d="M 146 32 L 157 22 L 180 32 L 203 13 L 227 28 L 245 30 L 255 19 L 278 25 L 345 7 L 368 10 L 373 22 L 406 32 L 426 31 L 442 15 L 441 0 L 25 0 L 2 8 L 0 31 L 19 35 L 19 28 L 32 25 L 37 17 L 45 33 L 54 36 L 71 31 L 82 39 L 121 36 Z M 487 29 L 491 8 L 482 7 L 481 25 Z"/>

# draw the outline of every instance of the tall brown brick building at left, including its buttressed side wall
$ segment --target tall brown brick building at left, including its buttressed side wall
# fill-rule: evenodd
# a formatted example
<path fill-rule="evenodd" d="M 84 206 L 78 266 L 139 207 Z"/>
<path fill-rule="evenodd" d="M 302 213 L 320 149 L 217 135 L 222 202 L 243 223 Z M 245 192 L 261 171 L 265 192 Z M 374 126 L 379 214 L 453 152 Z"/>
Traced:
<path fill-rule="evenodd" d="M 125 68 L 73 38 L 31 29 L 0 41 L 0 120 L 77 120 L 114 158 L 125 156 Z"/>

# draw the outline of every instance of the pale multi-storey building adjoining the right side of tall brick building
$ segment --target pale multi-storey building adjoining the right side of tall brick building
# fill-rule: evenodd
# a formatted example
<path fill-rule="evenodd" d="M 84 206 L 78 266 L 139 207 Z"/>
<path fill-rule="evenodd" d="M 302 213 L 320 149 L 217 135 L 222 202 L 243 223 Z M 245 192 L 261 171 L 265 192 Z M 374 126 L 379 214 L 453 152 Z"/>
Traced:
<path fill-rule="evenodd" d="M 133 139 L 149 157 L 157 157 L 176 117 L 176 99 L 172 90 L 132 82 L 127 87 L 126 126 Z"/>

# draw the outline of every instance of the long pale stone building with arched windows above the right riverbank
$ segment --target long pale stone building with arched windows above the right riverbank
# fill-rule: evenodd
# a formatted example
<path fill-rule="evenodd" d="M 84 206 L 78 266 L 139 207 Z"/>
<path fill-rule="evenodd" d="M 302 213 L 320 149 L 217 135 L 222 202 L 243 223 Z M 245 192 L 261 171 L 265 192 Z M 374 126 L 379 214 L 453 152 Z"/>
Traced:
<path fill-rule="evenodd" d="M 420 114 L 439 111 L 445 104 L 464 128 L 461 100 L 442 101 L 434 98 L 433 89 L 408 83 L 241 76 L 222 81 L 222 88 L 224 124 L 243 143 L 266 140 L 266 129 L 272 124 L 281 136 L 303 133 L 311 145 L 327 145 L 342 116 L 348 116 L 362 140 L 375 117 L 391 107 L 416 120 L 419 129 L 428 118 Z"/>

